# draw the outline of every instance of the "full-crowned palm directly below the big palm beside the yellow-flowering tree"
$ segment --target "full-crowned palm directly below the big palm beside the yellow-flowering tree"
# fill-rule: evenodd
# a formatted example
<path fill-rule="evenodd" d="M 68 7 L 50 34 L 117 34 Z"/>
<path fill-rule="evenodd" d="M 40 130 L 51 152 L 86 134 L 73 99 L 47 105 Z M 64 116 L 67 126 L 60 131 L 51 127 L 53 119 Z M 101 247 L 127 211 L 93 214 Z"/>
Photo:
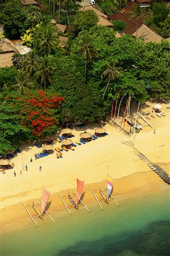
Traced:
<path fill-rule="evenodd" d="M 40 57 L 40 63 L 37 65 L 35 78 L 40 79 L 41 84 L 44 84 L 44 90 L 48 82 L 52 82 L 52 75 L 56 68 L 50 64 L 49 56 Z"/>

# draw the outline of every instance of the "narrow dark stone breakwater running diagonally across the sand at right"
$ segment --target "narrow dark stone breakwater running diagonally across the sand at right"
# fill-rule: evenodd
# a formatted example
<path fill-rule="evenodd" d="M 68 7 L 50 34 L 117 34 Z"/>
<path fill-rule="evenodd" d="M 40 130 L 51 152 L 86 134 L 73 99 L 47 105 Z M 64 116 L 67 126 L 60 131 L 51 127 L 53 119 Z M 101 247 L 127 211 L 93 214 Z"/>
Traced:
<path fill-rule="evenodd" d="M 165 172 L 162 168 L 160 168 L 157 164 L 152 163 L 145 155 L 143 155 L 137 148 L 134 147 L 133 142 L 122 142 L 126 146 L 130 146 L 134 149 L 135 155 L 137 155 L 143 162 L 146 162 L 147 165 L 151 168 L 152 171 L 156 172 L 161 179 L 165 181 L 165 183 L 170 184 L 170 177 L 168 176 L 167 172 Z"/>

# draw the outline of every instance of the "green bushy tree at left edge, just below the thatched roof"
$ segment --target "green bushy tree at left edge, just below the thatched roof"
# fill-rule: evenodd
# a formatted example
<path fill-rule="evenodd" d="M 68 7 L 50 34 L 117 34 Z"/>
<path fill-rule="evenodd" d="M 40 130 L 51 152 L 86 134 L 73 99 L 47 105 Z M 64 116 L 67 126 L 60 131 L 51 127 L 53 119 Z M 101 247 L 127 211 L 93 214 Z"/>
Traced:
<path fill-rule="evenodd" d="M 18 74 L 16 67 L 0 68 L 0 91 L 3 86 L 15 84 L 15 77 Z"/>

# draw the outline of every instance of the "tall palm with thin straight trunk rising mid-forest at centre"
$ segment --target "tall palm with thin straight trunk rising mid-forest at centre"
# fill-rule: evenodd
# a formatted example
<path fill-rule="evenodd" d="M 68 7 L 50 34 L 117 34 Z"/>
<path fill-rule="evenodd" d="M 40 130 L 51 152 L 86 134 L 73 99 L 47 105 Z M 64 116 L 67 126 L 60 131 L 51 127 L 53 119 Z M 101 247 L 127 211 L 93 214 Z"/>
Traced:
<path fill-rule="evenodd" d="M 90 61 L 92 57 L 94 57 L 97 53 L 94 40 L 89 34 L 83 35 L 82 42 L 80 43 L 78 51 L 82 53 L 82 57 L 85 59 L 84 74 L 86 77 L 87 61 Z"/>

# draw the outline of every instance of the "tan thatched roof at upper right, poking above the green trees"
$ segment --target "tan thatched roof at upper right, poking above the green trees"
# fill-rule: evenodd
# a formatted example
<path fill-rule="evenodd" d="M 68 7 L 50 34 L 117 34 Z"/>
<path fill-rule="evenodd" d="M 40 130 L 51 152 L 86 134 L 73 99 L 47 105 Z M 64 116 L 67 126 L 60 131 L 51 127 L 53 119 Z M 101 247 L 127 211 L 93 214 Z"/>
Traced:
<path fill-rule="evenodd" d="M 133 34 L 133 36 L 136 37 L 136 32 Z M 154 32 L 144 24 L 138 29 L 137 38 L 139 38 L 140 36 L 144 39 L 145 43 L 148 43 L 148 42 L 160 43 L 162 40 L 164 40 L 162 36 L 156 34 L 156 32 Z"/>

